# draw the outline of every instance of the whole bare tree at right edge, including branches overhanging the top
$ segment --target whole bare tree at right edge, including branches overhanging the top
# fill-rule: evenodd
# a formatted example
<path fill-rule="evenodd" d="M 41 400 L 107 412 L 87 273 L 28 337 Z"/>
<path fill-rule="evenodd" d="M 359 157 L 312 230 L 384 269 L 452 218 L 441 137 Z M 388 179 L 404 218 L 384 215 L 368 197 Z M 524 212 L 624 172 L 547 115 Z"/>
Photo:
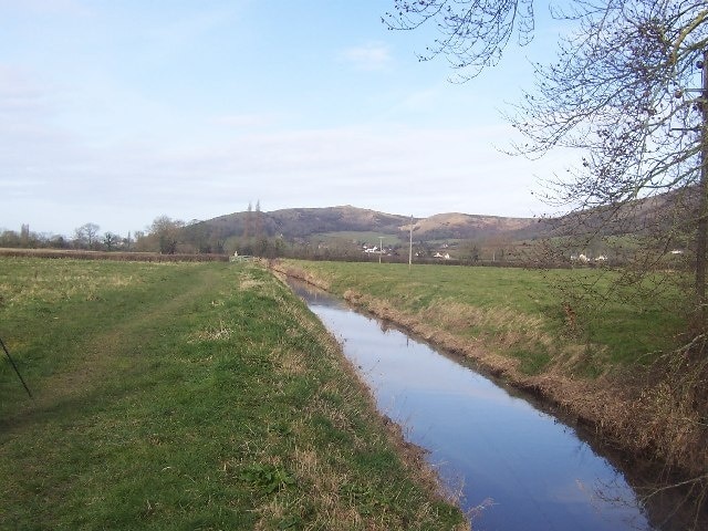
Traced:
<path fill-rule="evenodd" d="M 436 28 L 439 37 L 420 59 L 444 56 L 455 81 L 469 81 L 497 64 L 512 38 L 520 44 L 530 41 L 534 3 L 394 0 L 395 9 L 384 23 L 398 30 Z M 559 42 L 552 63 L 534 65 L 534 86 L 509 112 L 524 137 L 514 150 L 530 157 L 558 147 L 577 150 L 579 164 L 549 183 L 546 199 L 571 209 L 564 218 L 572 223 L 566 235 L 583 232 L 590 242 L 625 231 L 642 242 L 628 257 L 637 267 L 623 268 L 623 280 L 632 282 L 635 293 L 647 285 L 642 273 L 650 272 L 656 280 L 664 271 L 664 279 L 680 281 L 683 275 L 667 271 L 673 266 L 667 254 L 685 251 L 694 269 L 693 282 L 680 285 L 690 325 L 684 346 L 660 360 L 666 372 L 658 377 L 675 407 L 670 414 L 664 412 L 665 419 L 683 418 L 685 434 L 705 440 L 708 4 L 705 0 L 543 4 L 555 18 L 573 21 L 575 31 Z M 663 279 L 652 289 L 657 285 Z M 645 391 L 642 399 L 656 396 L 654 389 Z M 690 413 L 690 420 L 681 417 L 684 413 Z M 657 427 L 657 433 L 662 429 Z M 705 464 L 702 448 L 697 459 Z M 691 481 L 700 487 L 700 506 L 708 498 L 705 470 Z"/>

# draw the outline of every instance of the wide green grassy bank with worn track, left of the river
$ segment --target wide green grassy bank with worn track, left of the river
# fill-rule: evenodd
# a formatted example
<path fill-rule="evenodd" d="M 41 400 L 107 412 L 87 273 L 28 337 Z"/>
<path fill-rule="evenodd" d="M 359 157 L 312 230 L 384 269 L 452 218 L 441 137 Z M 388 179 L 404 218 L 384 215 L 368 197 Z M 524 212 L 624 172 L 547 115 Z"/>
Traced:
<path fill-rule="evenodd" d="M 252 264 L 0 259 L 6 529 L 452 529 L 336 344 Z M 396 446 L 398 441 L 399 446 Z"/>

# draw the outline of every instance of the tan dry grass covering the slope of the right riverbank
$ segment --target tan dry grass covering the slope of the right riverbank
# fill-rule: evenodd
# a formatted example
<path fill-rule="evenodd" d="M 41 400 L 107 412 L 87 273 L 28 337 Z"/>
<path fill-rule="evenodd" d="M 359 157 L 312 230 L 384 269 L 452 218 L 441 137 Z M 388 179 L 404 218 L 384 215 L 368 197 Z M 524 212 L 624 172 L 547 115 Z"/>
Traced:
<path fill-rule="evenodd" d="M 289 264 L 288 272 L 294 269 Z M 309 277 L 309 271 L 298 274 Z M 344 298 L 543 397 L 563 415 L 593 426 L 627 451 L 658 459 L 687 477 L 701 477 L 708 470 L 705 364 L 702 368 L 696 363 L 681 367 L 658 364 L 653 377 L 636 367 L 579 377 L 575 367 L 586 358 L 598 363 L 607 355 L 606 348 L 591 352 L 582 342 L 553 336 L 541 317 L 503 305 L 478 308 L 446 300 L 430 301 L 418 311 L 402 311 L 396 303 L 353 289 Z M 482 332 L 472 332 L 477 329 Z M 552 353 L 551 362 L 537 374 L 522 371 L 522 362 L 503 352 L 527 344 L 543 345 Z"/>

